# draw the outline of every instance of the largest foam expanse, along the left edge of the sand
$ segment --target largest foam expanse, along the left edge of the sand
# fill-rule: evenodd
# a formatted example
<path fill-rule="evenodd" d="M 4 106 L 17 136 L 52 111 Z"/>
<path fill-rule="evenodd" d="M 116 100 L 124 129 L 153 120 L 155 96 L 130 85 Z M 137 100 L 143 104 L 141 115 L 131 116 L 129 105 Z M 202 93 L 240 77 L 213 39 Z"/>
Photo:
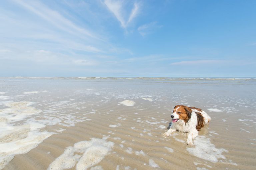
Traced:
<path fill-rule="evenodd" d="M 41 131 L 45 125 L 38 122 L 29 121 L 14 126 L 15 122 L 41 112 L 29 106 L 31 104 L 32 102 L 12 102 L 5 104 L 9 108 L 0 110 L 0 169 L 3 169 L 15 155 L 29 152 L 54 134 Z"/>

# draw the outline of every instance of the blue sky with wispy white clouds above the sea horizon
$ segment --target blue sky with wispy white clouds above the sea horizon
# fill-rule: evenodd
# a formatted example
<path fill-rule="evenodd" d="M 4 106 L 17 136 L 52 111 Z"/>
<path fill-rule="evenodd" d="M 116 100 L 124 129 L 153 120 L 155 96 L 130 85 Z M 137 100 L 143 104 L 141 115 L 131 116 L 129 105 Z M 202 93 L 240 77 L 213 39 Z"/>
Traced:
<path fill-rule="evenodd" d="M 6 0 L 0 76 L 255 77 L 255 0 Z"/>

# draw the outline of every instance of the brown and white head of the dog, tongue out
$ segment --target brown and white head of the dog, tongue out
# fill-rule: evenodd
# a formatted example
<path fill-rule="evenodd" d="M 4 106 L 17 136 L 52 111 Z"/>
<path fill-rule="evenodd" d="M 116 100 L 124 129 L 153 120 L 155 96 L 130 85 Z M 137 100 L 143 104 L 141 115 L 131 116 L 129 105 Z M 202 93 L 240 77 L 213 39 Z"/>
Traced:
<path fill-rule="evenodd" d="M 187 123 L 191 118 L 191 113 L 192 110 L 187 106 L 175 106 L 171 114 L 172 123 L 178 122 L 179 120 L 183 120 L 185 123 Z"/>

